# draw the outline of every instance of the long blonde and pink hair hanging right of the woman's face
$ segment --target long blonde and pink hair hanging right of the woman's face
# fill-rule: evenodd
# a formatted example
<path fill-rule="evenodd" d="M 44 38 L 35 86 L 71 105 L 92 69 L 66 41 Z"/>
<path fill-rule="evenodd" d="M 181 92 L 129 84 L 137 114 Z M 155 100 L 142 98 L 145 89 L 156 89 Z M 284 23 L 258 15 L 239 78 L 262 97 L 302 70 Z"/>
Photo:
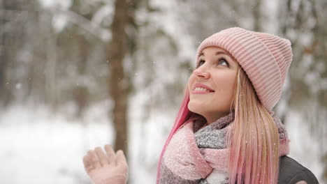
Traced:
<path fill-rule="evenodd" d="M 273 117 L 261 105 L 239 66 L 232 105 L 235 120 L 228 132 L 229 183 L 277 183 L 279 134 Z"/>

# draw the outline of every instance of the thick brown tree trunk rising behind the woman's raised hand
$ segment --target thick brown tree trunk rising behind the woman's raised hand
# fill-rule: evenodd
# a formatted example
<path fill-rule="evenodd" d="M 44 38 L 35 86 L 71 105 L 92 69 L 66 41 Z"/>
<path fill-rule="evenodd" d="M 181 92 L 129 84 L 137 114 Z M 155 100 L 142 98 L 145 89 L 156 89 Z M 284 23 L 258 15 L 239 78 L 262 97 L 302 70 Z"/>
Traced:
<path fill-rule="evenodd" d="M 127 77 L 124 76 L 124 56 L 126 56 L 126 33 L 128 24 L 128 10 L 126 0 L 115 2 L 115 15 L 112 22 L 112 40 L 108 45 L 108 59 L 110 61 L 109 92 L 115 105 L 112 111 L 112 121 L 116 131 L 115 149 L 122 150 L 127 155 Z"/>

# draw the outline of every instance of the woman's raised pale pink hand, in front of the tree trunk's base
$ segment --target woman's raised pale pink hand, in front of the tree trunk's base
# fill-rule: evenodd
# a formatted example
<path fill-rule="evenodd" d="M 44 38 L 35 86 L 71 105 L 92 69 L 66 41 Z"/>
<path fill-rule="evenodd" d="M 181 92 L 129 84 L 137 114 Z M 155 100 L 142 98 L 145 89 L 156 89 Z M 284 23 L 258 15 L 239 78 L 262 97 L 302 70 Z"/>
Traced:
<path fill-rule="evenodd" d="M 125 184 L 128 179 L 128 165 L 124 153 L 117 153 L 106 145 L 106 153 L 100 147 L 87 152 L 83 157 L 85 171 L 95 184 Z"/>

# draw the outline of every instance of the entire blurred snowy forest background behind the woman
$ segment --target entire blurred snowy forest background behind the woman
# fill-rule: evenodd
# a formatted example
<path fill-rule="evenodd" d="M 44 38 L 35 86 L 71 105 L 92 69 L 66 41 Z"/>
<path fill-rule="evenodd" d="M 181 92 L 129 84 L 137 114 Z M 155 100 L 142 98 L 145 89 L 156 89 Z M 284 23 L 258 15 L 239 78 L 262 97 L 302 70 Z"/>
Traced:
<path fill-rule="evenodd" d="M 275 112 L 291 157 L 327 183 L 326 0 L 0 0 L 0 183 L 91 183 L 114 144 L 154 183 L 201 40 L 240 26 L 288 38 Z"/>

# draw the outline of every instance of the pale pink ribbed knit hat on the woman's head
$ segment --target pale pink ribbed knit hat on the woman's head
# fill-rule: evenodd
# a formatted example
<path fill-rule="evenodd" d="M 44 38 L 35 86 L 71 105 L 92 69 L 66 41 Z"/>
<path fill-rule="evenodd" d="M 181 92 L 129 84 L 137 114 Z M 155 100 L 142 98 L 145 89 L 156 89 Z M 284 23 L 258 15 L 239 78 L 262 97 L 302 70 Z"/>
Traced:
<path fill-rule="evenodd" d="M 269 111 L 273 109 L 282 94 L 286 72 L 291 65 L 291 42 L 269 33 L 233 27 L 203 40 L 196 57 L 210 46 L 229 52 L 247 73 L 263 107 Z"/>

